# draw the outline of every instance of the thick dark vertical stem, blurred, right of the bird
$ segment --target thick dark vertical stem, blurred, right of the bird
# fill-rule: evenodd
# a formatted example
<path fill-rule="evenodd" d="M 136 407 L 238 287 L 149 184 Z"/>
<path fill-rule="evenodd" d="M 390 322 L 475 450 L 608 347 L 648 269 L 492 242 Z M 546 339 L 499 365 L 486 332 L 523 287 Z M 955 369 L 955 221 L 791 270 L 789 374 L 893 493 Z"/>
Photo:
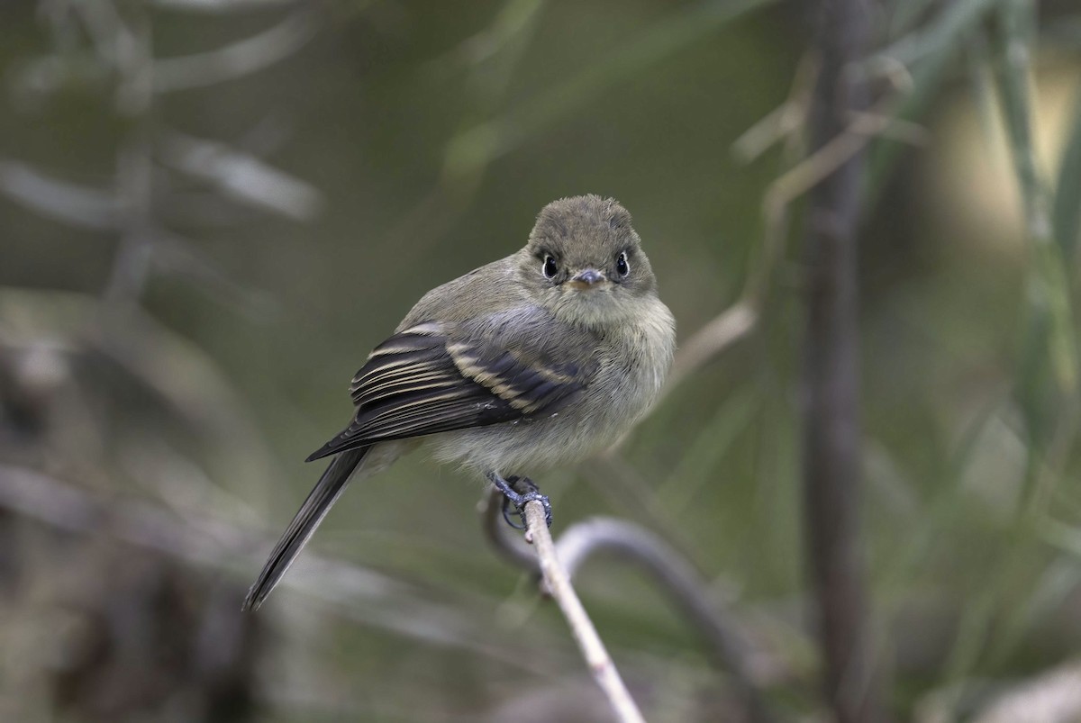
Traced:
<path fill-rule="evenodd" d="M 864 139 L 849 125 L 853 113 L 867 107 L 864 82 L 851 68 L 868 42 L 870 9 L 862 0 L 822 0 L 817 10 L 820 65 L 809 116 L 810 150 L 829 152 L 833 162 L 819 164 L 810 178 L 816 185 L 804 229 L 804 520 L 826 696 L 839 723 L 867 723 L 882 713 L 867 633 L 858 522 L 856 230 Z"/>

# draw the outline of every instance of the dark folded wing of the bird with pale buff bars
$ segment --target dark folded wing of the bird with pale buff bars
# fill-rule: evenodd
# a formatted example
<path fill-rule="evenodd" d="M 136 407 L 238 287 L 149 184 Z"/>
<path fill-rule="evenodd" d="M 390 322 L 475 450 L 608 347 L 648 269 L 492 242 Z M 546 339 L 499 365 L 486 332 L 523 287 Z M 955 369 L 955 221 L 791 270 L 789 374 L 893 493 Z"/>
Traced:
<path fill-rule="evenodd" d="M 596 371 L 595 343 L 566 329 L 553 345 L 559 335 L 539 321 L 533 313 L 480 327 L 426 322 L 395 334 L 352 379 L 352 424 L 308 459 L 558 411 Z"/>

